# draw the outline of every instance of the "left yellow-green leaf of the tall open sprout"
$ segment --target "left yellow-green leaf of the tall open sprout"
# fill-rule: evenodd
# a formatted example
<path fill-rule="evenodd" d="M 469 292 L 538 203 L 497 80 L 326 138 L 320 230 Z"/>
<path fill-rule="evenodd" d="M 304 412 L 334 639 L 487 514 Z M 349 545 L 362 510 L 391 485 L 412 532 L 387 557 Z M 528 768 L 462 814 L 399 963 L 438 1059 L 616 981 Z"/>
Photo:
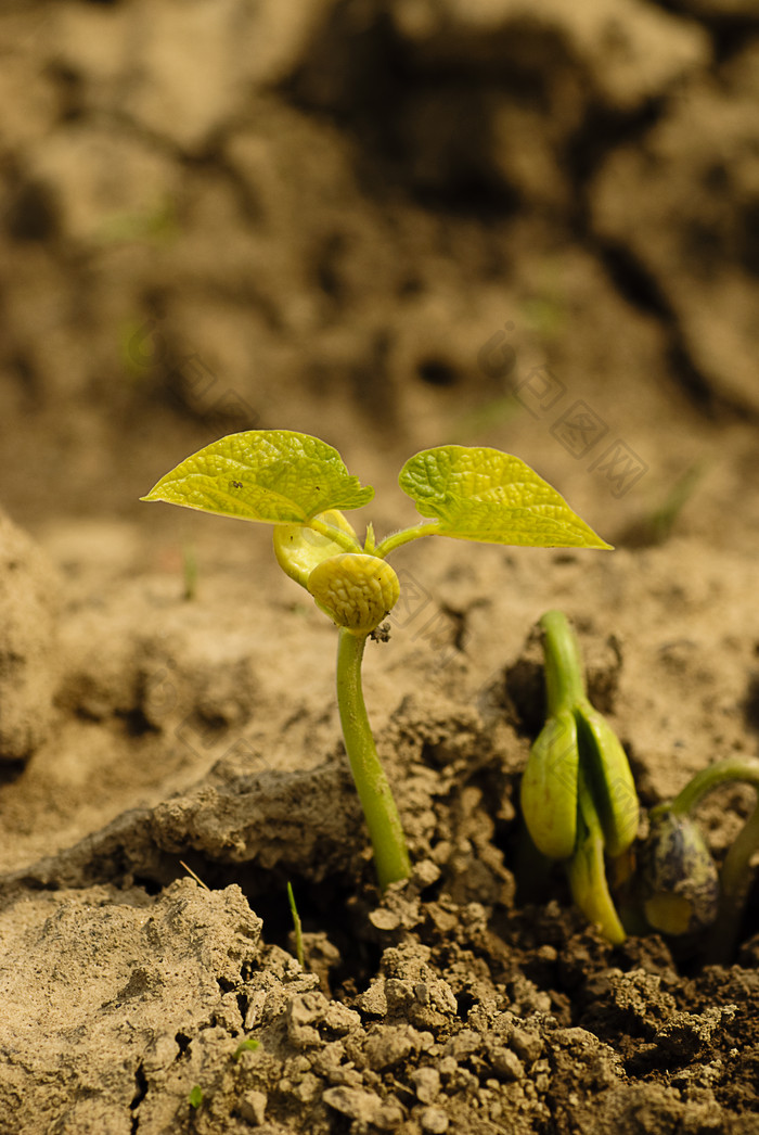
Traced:
<path fill-rule="evenodd" d="M 230 434 L 160 479 L 143 501 L 166 501 L 221 516 L 304 524 L 329 508 L 360 508 L 374 496 L 337 449 L 284 429 Z"/>

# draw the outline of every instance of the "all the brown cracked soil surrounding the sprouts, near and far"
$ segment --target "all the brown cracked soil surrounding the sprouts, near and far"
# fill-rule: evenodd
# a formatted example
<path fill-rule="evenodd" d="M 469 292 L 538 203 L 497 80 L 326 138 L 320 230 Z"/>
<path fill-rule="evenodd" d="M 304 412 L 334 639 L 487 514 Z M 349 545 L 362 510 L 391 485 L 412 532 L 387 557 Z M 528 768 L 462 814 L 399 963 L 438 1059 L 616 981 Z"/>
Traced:
<path fill-rule="evenodd" d="M 723 967 L 520 886 L 543 611 L 644 807 L 759 729 L 759 19 L 566 7 L 3 6 L 2 1135 L 759 1133 L 756 893 Z M 137 502 L 255 427 L 379 531 L 455 440 L 617 546 L 395 557 L 381 901 L 334 628 L 264 528 Z M 701 809 L 718 859 L 751 806 Z"/>

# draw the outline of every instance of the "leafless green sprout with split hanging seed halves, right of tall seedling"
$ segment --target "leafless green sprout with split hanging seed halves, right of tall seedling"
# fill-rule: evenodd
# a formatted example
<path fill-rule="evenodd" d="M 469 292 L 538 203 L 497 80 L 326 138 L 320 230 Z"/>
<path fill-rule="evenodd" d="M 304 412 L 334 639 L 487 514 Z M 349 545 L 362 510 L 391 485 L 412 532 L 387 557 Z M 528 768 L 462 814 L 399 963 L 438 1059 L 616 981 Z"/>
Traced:
<path fill-rule="evenodd" d="M 638 794 L 627 757 L 588 700 L 577 640 L 560 611 L 540 619 L 547 721 L 522 776 L 522 814 L 548 859 L 564 860 L 572 897 L 614 943 L 625 940 L 605 857 L 627 850 L 638 831 Z"/>

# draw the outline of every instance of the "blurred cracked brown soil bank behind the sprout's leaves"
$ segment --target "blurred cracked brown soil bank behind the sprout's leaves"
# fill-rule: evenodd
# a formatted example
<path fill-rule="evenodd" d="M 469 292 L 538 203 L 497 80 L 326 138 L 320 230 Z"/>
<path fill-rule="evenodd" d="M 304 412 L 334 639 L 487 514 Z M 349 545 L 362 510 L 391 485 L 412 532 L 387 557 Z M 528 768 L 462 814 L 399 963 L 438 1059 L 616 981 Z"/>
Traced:
<path fill-rule="evenodd" d="M 3 0 L 0 506 L 32 530 L 154 522 L 189 452 L 289 428 L 380 522 L 457 442 L 617 543 L 753 547 L 758 360 L 756 0 Z"/>

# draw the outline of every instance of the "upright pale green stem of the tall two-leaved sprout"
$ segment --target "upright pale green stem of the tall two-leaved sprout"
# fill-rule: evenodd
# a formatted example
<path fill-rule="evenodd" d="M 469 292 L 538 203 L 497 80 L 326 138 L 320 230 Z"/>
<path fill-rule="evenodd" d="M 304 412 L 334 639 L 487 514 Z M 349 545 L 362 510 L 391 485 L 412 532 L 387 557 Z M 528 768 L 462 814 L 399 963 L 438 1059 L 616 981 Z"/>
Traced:
<path fill-rule="evenodd" d="M 380 889 L 408 878 L 411 863 L 393 792 L 374 747 L 361 687 L 365 634 L 340 629 L 337 641 L 337 704 L 345 749 L 374 850 Z"/>

